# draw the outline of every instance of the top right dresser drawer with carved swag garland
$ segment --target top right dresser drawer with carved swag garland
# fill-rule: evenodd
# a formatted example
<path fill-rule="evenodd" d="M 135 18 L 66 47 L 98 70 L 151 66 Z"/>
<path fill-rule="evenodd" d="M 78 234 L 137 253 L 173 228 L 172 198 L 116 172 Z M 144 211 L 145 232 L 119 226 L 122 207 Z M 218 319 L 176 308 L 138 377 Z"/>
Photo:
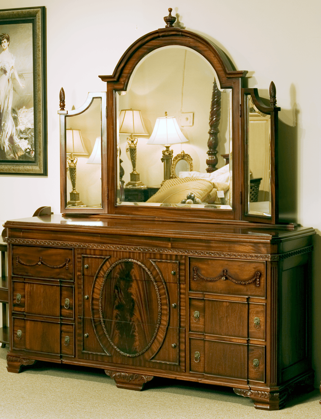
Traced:
<path fill-rule="evenodd" d="M 190 291 L 265 297 L 265 262 L 190 258 Z"/>

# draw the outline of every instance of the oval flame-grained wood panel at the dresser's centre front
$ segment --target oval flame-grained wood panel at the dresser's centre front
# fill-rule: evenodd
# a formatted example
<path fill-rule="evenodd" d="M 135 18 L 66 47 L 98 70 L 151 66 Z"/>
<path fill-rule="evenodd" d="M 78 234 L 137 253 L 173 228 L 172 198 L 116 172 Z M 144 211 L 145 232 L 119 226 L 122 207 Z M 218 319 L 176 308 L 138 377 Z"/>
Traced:
<path fill-rule="evenodd" d="M 161 321 L 161 297 L 149 269 L 135 259 L 120 259 L 105 273 L 99 294 L 104 334 L 126 357 L 146 352 Z"/>

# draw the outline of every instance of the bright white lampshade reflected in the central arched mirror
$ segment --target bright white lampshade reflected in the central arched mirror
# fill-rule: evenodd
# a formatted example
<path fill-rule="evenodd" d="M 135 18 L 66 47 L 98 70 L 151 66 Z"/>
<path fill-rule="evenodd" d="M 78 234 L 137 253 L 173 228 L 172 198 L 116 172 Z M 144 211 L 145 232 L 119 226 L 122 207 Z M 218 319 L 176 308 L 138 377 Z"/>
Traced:
<path fill-rule="evenodd" d="M 177 144 L 187 142 L 174 116 L 163 116 L 157 118 L 152 135 L 146 144 Z"/>

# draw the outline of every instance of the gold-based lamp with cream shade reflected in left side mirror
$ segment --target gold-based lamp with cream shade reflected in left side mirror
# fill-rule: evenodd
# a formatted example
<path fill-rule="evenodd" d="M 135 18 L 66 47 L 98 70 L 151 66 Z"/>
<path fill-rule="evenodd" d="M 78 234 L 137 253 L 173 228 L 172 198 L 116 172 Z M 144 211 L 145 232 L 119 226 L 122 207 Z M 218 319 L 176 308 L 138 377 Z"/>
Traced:
<path fill-rule="evenodd" d="M 67 171 L 69 170 L 70 180 L 72 183 L 72 191 L 69 192 L 70 201 L 67 202 L 67 206 L 86 207 L 86 205 L 80 200 L 79 193 L 76 191 L 77 157 L 74 157 L 74 154 L 83 156 L 88 155 L 79 129 L 66 129 L 66 154 L 71 155 L 71 157 L 67 157 Z"/>

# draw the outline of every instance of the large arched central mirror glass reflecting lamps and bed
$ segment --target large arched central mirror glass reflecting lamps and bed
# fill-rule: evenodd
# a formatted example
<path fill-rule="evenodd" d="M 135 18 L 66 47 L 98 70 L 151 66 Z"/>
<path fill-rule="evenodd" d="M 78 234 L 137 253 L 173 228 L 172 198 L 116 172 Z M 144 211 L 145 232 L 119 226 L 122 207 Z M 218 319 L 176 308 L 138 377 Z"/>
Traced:
<path fill-rule="evenodd" d="M 162 47 L 119 93 L 117 205 L 231 209 L 232 93 L 213 67 L 192 49 Z M 173 174 L 183 151 L 193 171 L 182 160 Z"/>

